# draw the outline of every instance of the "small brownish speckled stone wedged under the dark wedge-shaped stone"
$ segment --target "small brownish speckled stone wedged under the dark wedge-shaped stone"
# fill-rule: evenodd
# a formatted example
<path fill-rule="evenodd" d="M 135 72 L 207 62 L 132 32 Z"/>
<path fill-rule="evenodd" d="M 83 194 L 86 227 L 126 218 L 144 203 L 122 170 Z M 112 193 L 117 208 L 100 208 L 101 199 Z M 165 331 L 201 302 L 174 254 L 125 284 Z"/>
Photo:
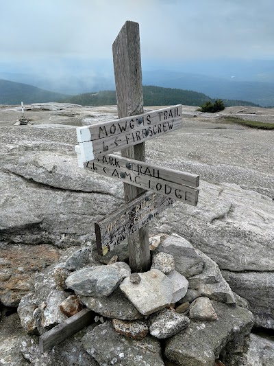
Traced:
<path fill-rule="evenodd" d="M 112 325 L 117 333 L 133 339 L 142 339 L 149 332 L 147 322 L 143 320 L 127 321 L 112 319 Z"/>

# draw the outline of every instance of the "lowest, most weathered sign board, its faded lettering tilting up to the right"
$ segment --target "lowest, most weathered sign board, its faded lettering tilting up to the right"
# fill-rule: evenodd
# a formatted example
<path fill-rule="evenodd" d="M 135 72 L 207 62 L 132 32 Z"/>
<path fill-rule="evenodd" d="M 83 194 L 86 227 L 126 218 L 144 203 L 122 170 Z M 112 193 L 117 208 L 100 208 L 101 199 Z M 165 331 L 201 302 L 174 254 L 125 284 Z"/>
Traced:
<path fill-rule="evenodd" d="M 103 220 L 95 222 L 98 253 L 107 254 L 173 202 L 171 198 L 160 194 L 145 192 L 105 216 Z"/>

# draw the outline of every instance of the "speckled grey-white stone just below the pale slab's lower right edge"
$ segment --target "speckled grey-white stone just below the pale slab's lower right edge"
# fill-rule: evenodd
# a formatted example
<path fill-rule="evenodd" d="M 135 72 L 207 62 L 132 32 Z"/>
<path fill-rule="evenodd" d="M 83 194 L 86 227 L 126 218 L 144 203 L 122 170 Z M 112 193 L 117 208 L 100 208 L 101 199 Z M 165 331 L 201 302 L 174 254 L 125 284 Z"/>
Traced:
<path fill-rule="evenodd" d="M 190 320 L 174 310 L 162 309 L 149 317 L 149 333 L 159 339 L 174 336 L 188 327 Z"/>

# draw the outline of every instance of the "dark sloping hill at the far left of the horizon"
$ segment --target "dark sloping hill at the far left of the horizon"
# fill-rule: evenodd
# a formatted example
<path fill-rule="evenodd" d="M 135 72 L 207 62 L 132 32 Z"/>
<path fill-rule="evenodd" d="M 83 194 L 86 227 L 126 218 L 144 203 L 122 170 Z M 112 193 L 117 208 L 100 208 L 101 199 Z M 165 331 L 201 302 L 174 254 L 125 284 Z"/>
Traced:
<path fill-rule="evenodd" d="M 47 91 L 29 84 L 0 79 L 0 104 L 58 102 L 68 95 Z"/>

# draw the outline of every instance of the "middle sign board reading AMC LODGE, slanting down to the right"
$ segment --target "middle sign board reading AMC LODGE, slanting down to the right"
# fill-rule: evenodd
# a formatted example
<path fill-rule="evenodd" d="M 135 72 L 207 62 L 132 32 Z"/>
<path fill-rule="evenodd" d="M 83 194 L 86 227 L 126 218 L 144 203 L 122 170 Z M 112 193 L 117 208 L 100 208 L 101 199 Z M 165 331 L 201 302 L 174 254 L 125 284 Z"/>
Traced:
<path fill-rule="evenodd" d="M 188 205 L 196 206 L 198 202 L 199 176 L 195 174 L 164 169 L 118 155 L 104 155 L 88 161 L 84 168 Z"/>

